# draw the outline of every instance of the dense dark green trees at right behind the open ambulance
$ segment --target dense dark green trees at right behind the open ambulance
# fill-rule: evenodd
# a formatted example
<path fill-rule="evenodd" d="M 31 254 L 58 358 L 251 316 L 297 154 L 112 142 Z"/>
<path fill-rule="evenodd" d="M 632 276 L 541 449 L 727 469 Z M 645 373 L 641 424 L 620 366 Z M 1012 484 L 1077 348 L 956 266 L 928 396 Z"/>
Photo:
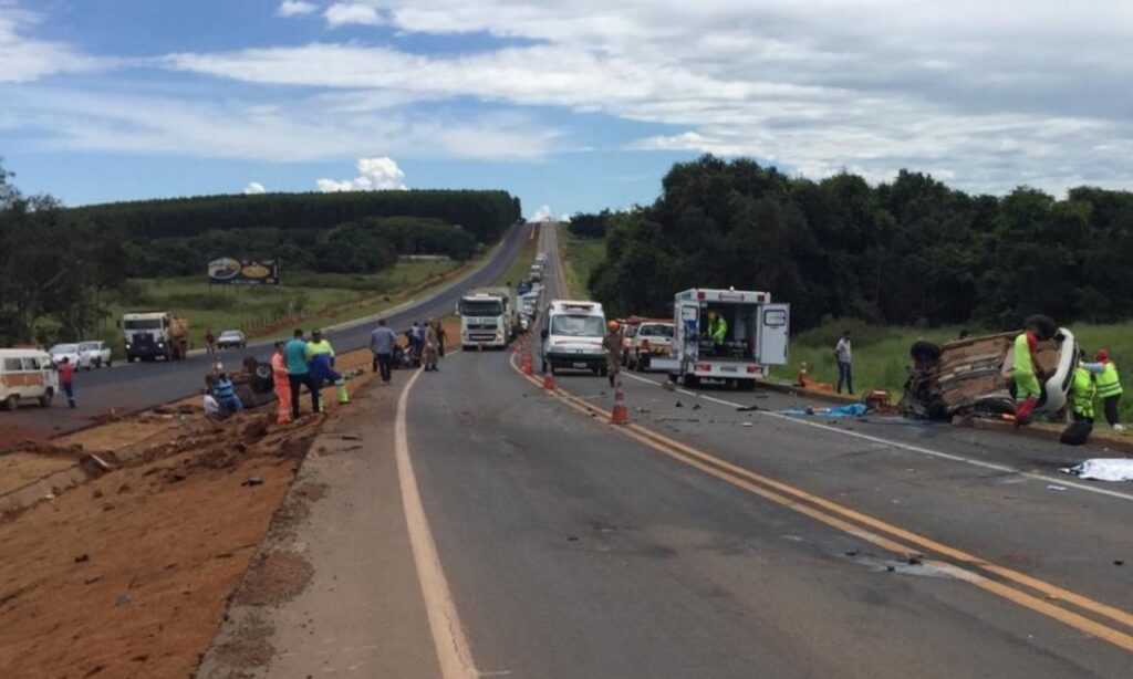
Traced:
<path fill-rule="evenodd" d="M 674 165 L 662 187 L 648 207 L 572 218 L 576 235 L 606 240 L 589 285 L 614 313 L 667 313 L 676 291 L 735 286 L 792 302 L 800 328 L 1133 317 L 1127 191 L 973 196 L 919 172 L 871 187 L 713 156 Z"/>

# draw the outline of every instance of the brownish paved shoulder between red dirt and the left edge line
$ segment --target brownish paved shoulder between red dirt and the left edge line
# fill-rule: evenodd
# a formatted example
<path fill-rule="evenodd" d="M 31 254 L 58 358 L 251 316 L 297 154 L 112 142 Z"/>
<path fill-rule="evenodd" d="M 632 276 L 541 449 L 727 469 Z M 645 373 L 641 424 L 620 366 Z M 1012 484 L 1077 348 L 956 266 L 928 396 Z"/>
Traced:
<path fill-rule="evenodd" d="M 312 446 L 197 676 L 440 676 L 376 381 Z"/>

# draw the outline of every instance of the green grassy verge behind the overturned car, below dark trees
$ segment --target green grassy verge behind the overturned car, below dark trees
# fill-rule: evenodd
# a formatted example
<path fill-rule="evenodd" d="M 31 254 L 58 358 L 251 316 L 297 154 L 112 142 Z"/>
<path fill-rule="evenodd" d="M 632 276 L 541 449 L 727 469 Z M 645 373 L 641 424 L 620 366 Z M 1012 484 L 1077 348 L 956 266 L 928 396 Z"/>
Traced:
<path fill-rule="evenodd" d="M 960 326 L 944 326 L 931 329 L 909 327 L 877 327 L 859 320 L 838 320 L 792 335 L 790 364 L 773 371 L 772 378 L 793 381 L 802 362 L 807 363 L 810 379 L 836 384 L 837 363 L 834 345 L 843 329 L 853 335 L 853 373 L 857 393 L 871 388 L 889 389 L 896 398 L 904 388 L 908 368 L 911 363 L 909 347 L 917 340 L 946 344 L 960 336 Z M 990 334 L 994 330 L 968 327 L 973 335 Z M 1122 420 L 1133 421 L 1133 321 L 1115 325 L 1079 324 L 1070 327 L 1079 345 L 1092 360 L 1099 347 L 1109 350 L 1122 370 L 1122 384 L 1126 396 L 1121 404 Z"/>

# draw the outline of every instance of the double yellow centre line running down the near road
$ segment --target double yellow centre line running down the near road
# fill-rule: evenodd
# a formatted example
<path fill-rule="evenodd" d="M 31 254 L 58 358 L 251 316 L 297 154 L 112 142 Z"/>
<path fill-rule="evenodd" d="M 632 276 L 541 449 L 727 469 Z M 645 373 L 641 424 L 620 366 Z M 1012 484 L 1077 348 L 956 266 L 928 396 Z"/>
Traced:
<path fill-rule="evenodd" d="M 516 364 L 517 355 L 518 353 L 512 354 L 511 367 L 528 381 L 542 386 L 537 378 L 522 373 Z M 607 414 L 590 403 L 561 389 L 553 389 L 548 393 L 560 402 L 588 416 L 605 416 Z M 923 564 L 946 571 L 957 579 L 1104 639 L 1125 651 L 1133 652 L 1133 614 L 1124 610 L 758 474 L 646 427 L 627 424 L 614 428 L 614 431 L 676 462 L 776 505 L 809 516 L 843 533 L 864 540 L 901 558 L 920 558 Z"/>

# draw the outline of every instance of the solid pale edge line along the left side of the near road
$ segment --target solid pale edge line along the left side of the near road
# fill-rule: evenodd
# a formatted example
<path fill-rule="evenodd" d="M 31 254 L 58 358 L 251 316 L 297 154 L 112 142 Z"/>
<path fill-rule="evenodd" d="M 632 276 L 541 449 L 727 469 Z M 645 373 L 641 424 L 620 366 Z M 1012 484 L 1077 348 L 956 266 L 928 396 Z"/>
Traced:
<path fill-rule="evenodd" d="M 437 662 L 441 664 L 441 676 L 444 679 L 474 679 L 478 677 L 472 664 L 472 653 L 465 635 L 465 627 L 457 614 L 457 604 L 449 590 L 449 581 L 444 577 L 444 568 L 428 527 L 425 507 L 421 504 L 420 491 L 417 488 L 417 476 L 414 463 L 409 457 L 409 437 L 406 427 L 409 393 L 421 376 L 418 370 L 406 383 L 398 398 L 398 415 L 393 427 L 393 446 L 398 459 L 398 480 L 401 485 L 401 504 L 406 513 L 406 525 L 409 528 L 409 543 L 417 564 L 417 577 L 425 599 L 425 611 L 428 614 L 429 631 L 433 634 L 433 645 L 436 647 Z"/>

